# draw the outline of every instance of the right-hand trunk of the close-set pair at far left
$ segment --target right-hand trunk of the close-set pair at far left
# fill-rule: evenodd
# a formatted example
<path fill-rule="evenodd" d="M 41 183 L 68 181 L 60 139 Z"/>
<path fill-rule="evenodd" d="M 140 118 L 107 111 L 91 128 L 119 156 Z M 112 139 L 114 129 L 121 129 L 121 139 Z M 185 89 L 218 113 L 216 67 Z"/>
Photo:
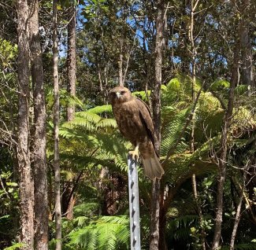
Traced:
<path fill-rule="evenodd" d="M 39 40 L 39 3 L 30 2 L 29 30 L 32 53 L 34 96 L 33 168 L 35 182 L 35 248 L 48 249 L 47 178 L 46 178 L 46 107 L 43 90 L 43 63 Z"/>

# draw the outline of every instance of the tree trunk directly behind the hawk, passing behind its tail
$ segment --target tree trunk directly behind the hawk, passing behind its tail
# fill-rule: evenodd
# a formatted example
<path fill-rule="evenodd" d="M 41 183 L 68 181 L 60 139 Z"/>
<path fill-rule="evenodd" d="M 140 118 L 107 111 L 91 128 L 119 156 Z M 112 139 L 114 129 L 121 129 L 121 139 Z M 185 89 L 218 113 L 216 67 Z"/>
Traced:
<path fill-rule="evenodd" d="M 158 153 L 160 153 L 161 144 L 161 65 L 163 50 L 163 33 L 164 33 L 164 14 L 165 2 L 158 0 L 157 2 L 157 20 L 156 20 L 156 43 L 155 43 L 155 84 L 154 93 L 152 95 L 154 129 L 157 137 L 155 143 Z M 161 182 L 156 179 L 152 182 L 151 206 L 150 206 L 150 250 L 158 249 L 159 244 L 159 215 L 160 215 L 160 197 Z"/>

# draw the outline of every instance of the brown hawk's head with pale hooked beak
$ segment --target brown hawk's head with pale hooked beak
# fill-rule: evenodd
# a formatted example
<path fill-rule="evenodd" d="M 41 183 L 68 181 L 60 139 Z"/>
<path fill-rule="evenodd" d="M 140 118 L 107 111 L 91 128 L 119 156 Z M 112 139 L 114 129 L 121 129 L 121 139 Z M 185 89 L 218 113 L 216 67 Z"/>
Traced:
<path fill-rule="evenodd" d="M 109 101 L 111 104 L 121 104 L 126 101 L 130 101 L 132 94 L 128 88 L 124 86 L 116 86 L 109 92 Z"/>

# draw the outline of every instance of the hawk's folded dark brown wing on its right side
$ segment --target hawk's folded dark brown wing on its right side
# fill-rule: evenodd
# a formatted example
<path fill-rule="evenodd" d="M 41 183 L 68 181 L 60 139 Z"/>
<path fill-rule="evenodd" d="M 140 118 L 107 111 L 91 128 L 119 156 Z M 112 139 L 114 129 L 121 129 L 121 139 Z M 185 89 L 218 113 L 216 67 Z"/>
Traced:
<path fill-rule="evenodd" d="M 147 134 L 154 145 L 154 142 L 155 142 L 154 125 L 152 121 L 152 116 L 150 114 L 150 108 L 147 106 L 147 104 L 144 101 L 140 100 L 139 98 L 136 98 L 135 101 L 139 108 L 139 117 L 143 125 L 146 127 Z"/>

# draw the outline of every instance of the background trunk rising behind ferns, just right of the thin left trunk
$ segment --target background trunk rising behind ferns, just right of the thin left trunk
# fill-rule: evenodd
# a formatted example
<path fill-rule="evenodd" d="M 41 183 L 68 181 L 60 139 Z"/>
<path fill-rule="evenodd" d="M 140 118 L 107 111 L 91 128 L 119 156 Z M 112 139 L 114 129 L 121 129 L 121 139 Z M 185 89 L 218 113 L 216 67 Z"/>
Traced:
<path fill-rule="evenodd" d="M 68 91 L 72 96 L 76 95 L 76 6 L 69 8 L 68 24 Z M 67 109 L 67 120 L 74 118 L 75 106 L 69 105 Z"/>

